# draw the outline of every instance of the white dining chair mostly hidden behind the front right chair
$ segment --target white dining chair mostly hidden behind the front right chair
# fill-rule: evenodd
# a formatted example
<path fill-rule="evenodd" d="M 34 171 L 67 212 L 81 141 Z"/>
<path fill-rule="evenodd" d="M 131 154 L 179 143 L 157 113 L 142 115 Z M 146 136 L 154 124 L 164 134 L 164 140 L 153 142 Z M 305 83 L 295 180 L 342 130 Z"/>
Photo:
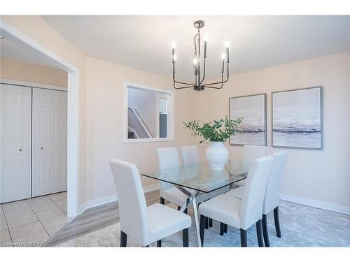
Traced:
<path fill-rule="evenodd" d="M 265 246 L 269 247 L 269 233 L 267 231 L 267 214 L 274 211 L 274 226 L 276 228 L 276 235 L 281 238 L 281 227 L 279 225 L 279 191 L 281 187 L 281 180 L 283 177 L 283 170 L 286 166 L 288 152 L 279 152 L 272 154 L 274 163 L 272 164 L 271 173 L 267 182 L 267 187 L 264 197 L 264 205 L 262 208 L 262 233 L 264 235 Z M 228 193 L 229 196 L 241 199 L 243 196 L 244 187 L 232 189 Z"/>

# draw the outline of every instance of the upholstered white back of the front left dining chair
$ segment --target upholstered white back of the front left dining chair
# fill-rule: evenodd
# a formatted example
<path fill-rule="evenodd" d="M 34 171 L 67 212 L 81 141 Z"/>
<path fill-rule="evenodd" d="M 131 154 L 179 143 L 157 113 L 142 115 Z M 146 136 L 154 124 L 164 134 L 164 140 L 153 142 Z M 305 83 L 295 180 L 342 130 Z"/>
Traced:
<path fill-rule="evenodd" d="M 120 230 L 145 245 L 149 242 L 148 214 L 139 170 L 134 164 L 117 159 L 109 161 L 109 166 L 117 188 Z"/>

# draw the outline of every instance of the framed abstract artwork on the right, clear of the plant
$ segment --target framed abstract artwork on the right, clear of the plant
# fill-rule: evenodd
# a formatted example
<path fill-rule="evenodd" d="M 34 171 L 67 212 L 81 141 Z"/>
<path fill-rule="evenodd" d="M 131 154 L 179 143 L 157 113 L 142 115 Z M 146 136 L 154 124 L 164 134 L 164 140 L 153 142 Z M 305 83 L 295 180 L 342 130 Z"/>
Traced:
<path fill-rule="evenodd" d="M 272 93 L 272 146 L 323 149 L 323 87 Z"/>

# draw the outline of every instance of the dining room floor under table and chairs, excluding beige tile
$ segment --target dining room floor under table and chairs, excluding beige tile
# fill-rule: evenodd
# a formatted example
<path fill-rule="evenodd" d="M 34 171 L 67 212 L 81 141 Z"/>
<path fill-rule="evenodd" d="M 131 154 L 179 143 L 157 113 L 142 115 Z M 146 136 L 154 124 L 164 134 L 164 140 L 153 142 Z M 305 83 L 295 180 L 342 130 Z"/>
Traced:
<path fill-rule="evenodd" d="M 158 203 L 160 191 L 146 193 L 148 205 Z M 176 208 L 176 206 L 172 206 Z M 273 214 L 267 216 L 269 239 L 272 247 L 350 247 L 350 216 L 280 201 L 282 238 L 277 238 Z M 192 210 L 188 211 L 193 216 Z M 119 247 L 118 204 L 109 203 L 86 210 L 48 242 L 48 246 L 62 247 Z M 228 233 L 219 234 L 219 223 L 205 233 L 206 247 L 239 247 L 239 229 L 229 226 Z M 190 247 L 197 246 L 193 226 L 189 231 Z M 129 241 L 129 240 L 128 240 Z M 164 247 L 181 247 L 181 232 L 163 240 Z M 255 226 L 248 230 L 248 247 L 256 247 Z M 132 240 L 128 246 L 137 246 Z M 155 244 L 152 245 L 153 247 Z"/>

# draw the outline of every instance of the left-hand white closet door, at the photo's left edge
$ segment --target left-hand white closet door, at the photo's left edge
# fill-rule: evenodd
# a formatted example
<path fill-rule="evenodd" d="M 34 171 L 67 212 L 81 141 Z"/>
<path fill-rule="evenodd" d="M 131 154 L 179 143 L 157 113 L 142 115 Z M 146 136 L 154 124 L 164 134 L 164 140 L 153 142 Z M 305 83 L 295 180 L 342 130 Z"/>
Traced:
<path fill-rule="evenodd" d="M 31 88 L 0 86 L 0 203 L 31 196 Z"/>

